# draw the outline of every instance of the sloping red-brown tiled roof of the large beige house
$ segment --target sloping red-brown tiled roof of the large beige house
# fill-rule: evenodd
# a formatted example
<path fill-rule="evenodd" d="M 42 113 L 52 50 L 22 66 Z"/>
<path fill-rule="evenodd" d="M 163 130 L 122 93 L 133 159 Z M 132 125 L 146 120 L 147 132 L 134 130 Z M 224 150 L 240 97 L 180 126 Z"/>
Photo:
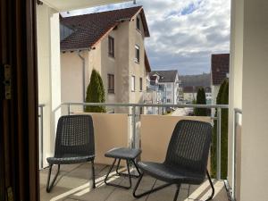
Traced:
<path fill-rule="evenodd" d="M 138 13 L 143 22 L 145 36 L 149 37 L 147 20 L 142 6 L 61 18 L 62 25 L 74 30 L 70 36 L 61 41 L 61 50 L 89 49 L 121 21 L 130 21 Z"/>

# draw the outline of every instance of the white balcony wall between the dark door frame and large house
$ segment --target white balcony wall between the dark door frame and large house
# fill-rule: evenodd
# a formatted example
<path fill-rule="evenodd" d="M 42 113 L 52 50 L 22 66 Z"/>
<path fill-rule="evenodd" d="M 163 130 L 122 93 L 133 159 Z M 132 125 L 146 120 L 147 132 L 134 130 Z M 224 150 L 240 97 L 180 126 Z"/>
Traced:
<path fill-rule="evenodd" d="M 61 110 L 59 14 L 46 4 L 37 5 L 38 104 L 44 104 L 44 160 L 54 154 L 56 122 Z"/>

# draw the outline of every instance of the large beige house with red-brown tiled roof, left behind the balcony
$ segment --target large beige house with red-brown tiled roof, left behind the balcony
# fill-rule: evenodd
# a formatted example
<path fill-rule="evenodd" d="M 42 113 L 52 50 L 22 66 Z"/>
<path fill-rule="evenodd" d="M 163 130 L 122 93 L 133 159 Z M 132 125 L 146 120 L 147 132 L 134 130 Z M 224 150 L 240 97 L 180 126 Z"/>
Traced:
<path fill-rule="evenodd" d="M 142 6 L 61 18 L 62 101 L 85 102 L 96 69 L 106 103 L 143 103 L 149 36 Z"/>

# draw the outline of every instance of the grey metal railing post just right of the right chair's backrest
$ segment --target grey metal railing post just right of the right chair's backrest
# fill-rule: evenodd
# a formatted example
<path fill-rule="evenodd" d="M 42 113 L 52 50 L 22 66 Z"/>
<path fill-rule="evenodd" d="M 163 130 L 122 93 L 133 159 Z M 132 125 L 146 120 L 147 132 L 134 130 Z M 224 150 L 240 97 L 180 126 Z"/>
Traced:
<path fill-rule="evenodd" d="M 217 108 L 217 180 L 222 177 L 222 109 Z"/>

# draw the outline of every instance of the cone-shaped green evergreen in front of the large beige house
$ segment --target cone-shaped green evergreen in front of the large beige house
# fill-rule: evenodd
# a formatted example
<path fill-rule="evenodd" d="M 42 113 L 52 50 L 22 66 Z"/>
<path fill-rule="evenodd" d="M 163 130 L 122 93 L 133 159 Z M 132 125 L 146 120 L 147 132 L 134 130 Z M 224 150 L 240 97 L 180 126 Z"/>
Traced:
<path fill-rule="evenodd" d="M 87 89 L 86 103 L 105 103 L 105 88 L 100 74 L 93 70 Z M 87 113 L 105 113 L 105 106 L 86 106 Z"/>

